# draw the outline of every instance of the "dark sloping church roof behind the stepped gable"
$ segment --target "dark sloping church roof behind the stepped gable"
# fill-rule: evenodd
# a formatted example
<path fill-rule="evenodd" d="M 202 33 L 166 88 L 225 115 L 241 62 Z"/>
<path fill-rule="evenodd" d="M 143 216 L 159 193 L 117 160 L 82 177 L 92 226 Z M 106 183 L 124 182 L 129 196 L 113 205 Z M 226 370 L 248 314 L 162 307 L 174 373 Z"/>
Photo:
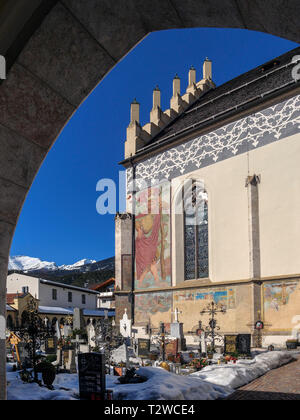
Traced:
<path fill-rule="evenodd" d="M 300 55 L 300 47 L 205 92 L 152 137 L 135 156 L 145 155 L 163 145 L 173 143 L 180 137 L 299 87 L 299 81 L 292 77 L 292 68 L 295 66 L 292 58 L 296 55 Z M 121 163 L 127 163 L 129 160 L 130 158 L 125 159 Z"/>

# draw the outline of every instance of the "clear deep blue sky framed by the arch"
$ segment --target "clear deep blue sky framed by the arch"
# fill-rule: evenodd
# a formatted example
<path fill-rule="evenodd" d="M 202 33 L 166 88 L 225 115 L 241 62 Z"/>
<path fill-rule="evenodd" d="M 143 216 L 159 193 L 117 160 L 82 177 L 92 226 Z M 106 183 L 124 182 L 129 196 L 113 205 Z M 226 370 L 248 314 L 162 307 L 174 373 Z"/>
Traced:
<path fill-rule="evenodd" d="M 124 157 L 130 102 L 141 103 L 149 121 L 152 90 L 162 91 L 169 108 L 172 79 L 187 85 L 191 65 L 202 78 L 205 57 L 213 61 L 220 85 L 298 45 L 271 35 L 239 29 L 156 32 L 130 52 L 99 84 L 69 121 L 50 150 L 24 204 L 11 255 L 57 264 L 114 255 L 114 217 L 96 212 L 96 184 L 118 180 Z"/>

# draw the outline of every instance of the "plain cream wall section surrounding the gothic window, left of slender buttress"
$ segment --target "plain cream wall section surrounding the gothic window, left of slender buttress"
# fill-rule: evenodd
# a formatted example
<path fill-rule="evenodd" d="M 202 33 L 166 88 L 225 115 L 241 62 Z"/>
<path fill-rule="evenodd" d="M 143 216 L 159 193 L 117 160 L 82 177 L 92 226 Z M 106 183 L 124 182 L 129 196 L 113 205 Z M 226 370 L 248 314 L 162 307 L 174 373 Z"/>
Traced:
<path fill-rule="evenodd" d="M 175 185 L 178 180 L 200 179 L 208 192 L 209 278 L 213 282 L 249 278 L 247 162 L 246 154 L 239 155 L 173 181 Z M 178 188 L 173 191 L 175 194 Z M 172 217 L 173 284 L 178 285 L 184 281 L 183 240 L 176 237 L 179 218 Z"/>

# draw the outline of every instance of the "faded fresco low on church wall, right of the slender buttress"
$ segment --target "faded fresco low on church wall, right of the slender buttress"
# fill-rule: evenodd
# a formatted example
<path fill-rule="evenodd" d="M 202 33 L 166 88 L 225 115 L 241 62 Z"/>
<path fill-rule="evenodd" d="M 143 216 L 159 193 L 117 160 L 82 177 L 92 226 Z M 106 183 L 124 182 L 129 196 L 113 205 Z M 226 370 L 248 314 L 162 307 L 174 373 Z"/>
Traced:
<path fill-rule="evenodd" d="M 289 303 L 290 296 L 297 289 L 298 282 L 264 284 L 264 309 L 279 311 Z"/>

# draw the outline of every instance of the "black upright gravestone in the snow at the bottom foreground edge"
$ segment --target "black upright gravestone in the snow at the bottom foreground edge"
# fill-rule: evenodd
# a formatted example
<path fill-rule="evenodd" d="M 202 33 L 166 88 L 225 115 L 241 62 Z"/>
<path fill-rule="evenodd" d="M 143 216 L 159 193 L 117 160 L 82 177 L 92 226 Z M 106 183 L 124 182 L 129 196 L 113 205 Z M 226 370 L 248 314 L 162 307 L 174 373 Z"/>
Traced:
<path fill-rule="evenodd" d="M 78 355 L 79 393 L 85 400 L 105 398 L 105 355 L 81 353 Z"/>

